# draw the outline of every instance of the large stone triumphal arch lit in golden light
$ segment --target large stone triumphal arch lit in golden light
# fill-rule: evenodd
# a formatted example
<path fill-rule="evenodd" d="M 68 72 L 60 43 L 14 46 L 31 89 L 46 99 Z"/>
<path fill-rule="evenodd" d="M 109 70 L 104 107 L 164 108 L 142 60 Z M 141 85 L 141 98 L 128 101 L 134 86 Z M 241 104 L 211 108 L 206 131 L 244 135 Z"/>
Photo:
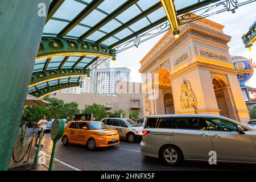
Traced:
<path fill-rule="evenodd" d="M 141 60 L 144 114 L 217 114 L 249 121 L 224 26 L 200 19 L 171 31 Z"/>

